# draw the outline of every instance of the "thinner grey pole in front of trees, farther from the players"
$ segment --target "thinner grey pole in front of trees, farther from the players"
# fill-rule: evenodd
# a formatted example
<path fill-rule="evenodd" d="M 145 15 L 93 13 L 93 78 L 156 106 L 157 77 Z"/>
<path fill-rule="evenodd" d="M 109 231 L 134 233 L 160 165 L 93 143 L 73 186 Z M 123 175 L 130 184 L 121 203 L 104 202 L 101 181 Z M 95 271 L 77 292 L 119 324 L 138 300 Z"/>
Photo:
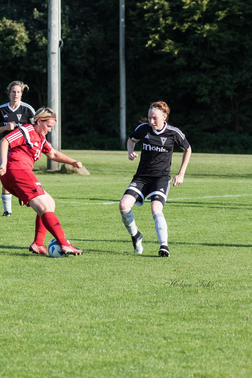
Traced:
<path fill-rule="evenodd" d="M 120 142 L 126 142 L 125 0 L 119 0 Z"/>

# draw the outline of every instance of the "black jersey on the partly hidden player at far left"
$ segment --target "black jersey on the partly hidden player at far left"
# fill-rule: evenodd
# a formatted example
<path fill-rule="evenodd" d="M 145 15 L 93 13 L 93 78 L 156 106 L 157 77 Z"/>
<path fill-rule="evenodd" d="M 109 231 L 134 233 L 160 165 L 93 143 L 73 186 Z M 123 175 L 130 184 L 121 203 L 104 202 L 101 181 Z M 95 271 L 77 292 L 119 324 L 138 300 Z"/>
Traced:
<path fill-rule="evenodd" d="M 3 125 L 6 126 L 9 122 L 15 122 L 15 128 L 21 125 L 27 125 L 32 123 L 35 111 L 31 105 L 20 101 L 20 104 L 11 109 L 9 102 L 7 104 L 0 105 L 0 123 L 3 121 Z M 7 135 L 11 130 L 3 132 L 2 136 Z"/>

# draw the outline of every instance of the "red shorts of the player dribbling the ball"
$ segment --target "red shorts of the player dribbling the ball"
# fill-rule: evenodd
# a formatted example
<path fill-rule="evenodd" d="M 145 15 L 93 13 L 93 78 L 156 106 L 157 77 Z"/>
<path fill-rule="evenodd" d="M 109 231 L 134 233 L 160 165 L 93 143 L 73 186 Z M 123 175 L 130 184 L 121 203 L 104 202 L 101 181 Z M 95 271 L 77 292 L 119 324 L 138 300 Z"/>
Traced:
<path fill-rule="evenodd" d="M 3 187 L 26 204 L 39 195 L 45 194 L 39 180 L 32 170 L 8 169 L 0 176 Z M 28 205 L 29 206 L 29 205 Z"/>

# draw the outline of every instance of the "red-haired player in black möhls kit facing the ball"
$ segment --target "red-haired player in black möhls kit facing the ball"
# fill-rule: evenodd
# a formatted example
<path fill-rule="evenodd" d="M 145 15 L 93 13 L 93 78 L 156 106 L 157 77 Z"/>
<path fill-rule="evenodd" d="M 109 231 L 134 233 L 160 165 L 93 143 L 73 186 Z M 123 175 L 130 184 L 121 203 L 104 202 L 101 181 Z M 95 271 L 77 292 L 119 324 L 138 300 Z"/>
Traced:
<path fill-rule="evenodd" d="M 142 254 L 142 234 L 136 227 L 131 208 L 141 206 L 144 198 L 150 198 L 155 230 L 160 244 L 159 256 L 169 257 L 167 224 L 162 209 L 170 189 L 170 183 L 178 186 L 183 182 L 184 174 L 191 155 L 191 147 L 181 130 L 167 124 L 170 109 L 163 101 L 150 105 L 148 118 L 142 119 L 128 139 L 128 158 L 135 160 L 135 143 L 141 140 L 142 152 L 136 174 L 127 187 L 119 203 L 122 222 L 131 235 L 134 252 Z M 171 181 L 170 167 L 174 144 L 183 150 L 182 164 L 178 174 Z"/>

